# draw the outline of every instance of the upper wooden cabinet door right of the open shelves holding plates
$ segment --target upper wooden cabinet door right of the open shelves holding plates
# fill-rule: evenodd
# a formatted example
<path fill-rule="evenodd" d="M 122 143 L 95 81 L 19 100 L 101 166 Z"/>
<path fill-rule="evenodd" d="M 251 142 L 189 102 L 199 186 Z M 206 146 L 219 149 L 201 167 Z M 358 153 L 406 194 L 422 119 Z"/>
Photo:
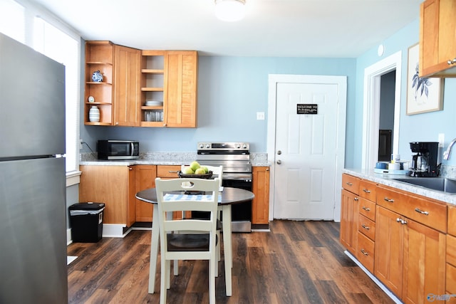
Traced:
<path fill-rule="evenodd" d="M 196 51 L 167 51 L 165 59 L 166 127 L 197 126 Z"/>

